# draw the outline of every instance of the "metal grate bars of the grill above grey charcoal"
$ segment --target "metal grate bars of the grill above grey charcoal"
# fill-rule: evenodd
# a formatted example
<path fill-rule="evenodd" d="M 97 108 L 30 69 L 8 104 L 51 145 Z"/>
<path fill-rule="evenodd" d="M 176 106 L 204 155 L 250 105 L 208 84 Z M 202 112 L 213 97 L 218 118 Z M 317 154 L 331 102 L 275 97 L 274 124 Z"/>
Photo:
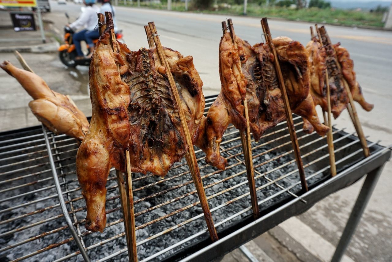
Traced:
<path fill-rule="evenodd" d="M 208 101 L 212 102 L 214 99 L 215 98 L 208 98 Z M 301 118 L 297 116 L 294 118 L 294 120 L 296 120 L 295 126 L 300 127 L 300 125 L 302 124 Z M 270 129 L 269 131 L 267 131 L 267 133 L 263 135 L 262 142 L 260 144 L 255 144 L 254 140 L 252 140 L 252 150 L 254 151 L 253 159 L 254 161 L 256 161 L 255 173 L 257 174 L 257 176 L 255 177 L 255 179 L 256 181 L 258 181 L 259 184 L 259 186 L 257 187 L 257 191 L 265 191 L 271 186 L 275 186 L 276 188 L 276 190 L 274 191 L 275 193 L 273 193 L 272 195 L 269 195 L 263 199 L 259 196 L 259 205 L 265 204 L 270 200 L 276 201 L 276 198 L 281 195 L 298 198 L 303 202 L 304 205 L 306 204 L 301 198 L 301 195 L 298 193 L 298 190 L 296 189 L 300 185 L 299 180 L 296 181 L 294 184 L 287 184 L 287 181 L 291 181 L 287 179 L 297 174 L 298 169 L 294 168 L 290 169 L 290 171 L 281 172 L 278 176 L 274 175 L 278 174 L 276 172 L 281 171 L 289 166 L 292 166 L 292 164 L 295 162 L 295 160 L 290 158 L 290 156 L 292 155 L 292 149 L 290 150 L 291 142 L 289 140 L 289 135 L 287 134 L 287 127 L 281 128 L 281 125 L 284 124 L 285 122 L 281 122 L 274 129 Z M 347 161 L 352 156 L 357 156 L 362 151 L 361 149 L 356 151 L 351 150 L 351 148 L 355 149 L 359 146 L 359 140 L 358 138 L 353 138 L 352 134 L 344 134 L 342 130 L 343 129 L 334 131 L 334 135 L 336 136 L 334 139 L 334 143 L 336 144 L 335 153 L 343 151 L 347 152 L 347 150 L 349 151 L 349 153 L 345 153 L 341 156 L 340 159 L 337 158 L 337 164 Z M 309 184 L 311 184 L 310 180 L 320 175 L 324 175 L 329 169 L 329 164 L 327 161 L 328 154 L 325 153 L 327 152 L 325 150 L 327 145 L 324 141 L 325 139 L 315 135 L 315 133 L 303 134 L 301 133 L 301 130 L 297 130 L 296 132 L 298 134 L 301 134 L 301 136 L 299 136 L 299 141 L 303 141 L 300 147 L 301 150 L 304 150 L 304 153 L 302 155 L 303 159 L 309 158 L 307 164 L 305 164 L 304 162 L 305 167 L 316 168 L 316 171 L 312 170 L 311 175 L 307 176 L 307 181 Z M 44 138 L 42 138 L 42 135 L 44 135 Z M 212 201 L 218 199 L 225 199 L 223 198 L 223 196 L 226 196 L 227 193 L 230 193 L 230 197 L 227 198 L 225 201 L 214 202 L 217 204 L 211 205 L 211 212 L 214 216 L 216 216 L 218 213 L 225 213 L 226 211 L 229 211 L 234 207 L 232 206 L 234 205 L 234 203 L 243 201 L 249 196 L 249 192 L 247 191 L 249 190 L 247 187 L 247 181 L 242 180 L 242 178 L 245 177 L 244 175 L 246 171 L 245 165 L 243 164 L 241 144 L 238 136 L 238 130 L 236 130 L 233 126 L 230 126 L 228 131 L 225 133 L 223 141 L 221 143 L 221 153 L 226 154 L 226 158 L 230 162 L 226 172 L 230 173 L 227 173 L 227 175 L 221 177 L 221 175 L 223 174 L 222 171 L 211 171 L 211 167 L 205 164 L 202 164 L 200 167 L 203 181 L 205 181 L 206 183 L 205 190 L 210 205 Z M 49 140 L 49 137 L 51 138 L 51 140 Z M 45 141 L 45 144 L 41 144 L 43 141 Z M 9 205 L 9 207 L 2 207 L 2 210 L 0 210 L 0 215 L 10 213 L 11 211 L 18 212 L 16 213 L 16 215 L 0 221 L 0 237 L 9 237 L 14 234 L 20 234 L 20 232 L 22 231 L 29 232 L 29 230 L 33 229 L 34 227 L 50 225 L 53 224 L 53 221 L 55 220 L 63 219 L 64 216 L 61 213 L 53 215 L 53 211 L 60 211 L 60 209 L 58 209 L 58 207 L 61 207 L 60 204 L 49 204 L 41 209 L 33 209 L 33 211 L 31 211 L 31 208 L 34 208 L 36 204 L 45 203 L 48 200 L 53 201 L 53 199 L 58 196 L 53 192 L 54 188 L 56 188 L 56 185 L 53 185 L 53 183 L 51 183 L 52 177 L 48 176 L 49 171 L 53 170 L 56 171 L 56 173 L 58 172 L 60 174 L 61 183 L 60 181 L 58 181 L 57 186 L 63 187 L 63 192 L 61 196 L 64 195 L 67 198 L 67 201 L 64 200 L 64 204 L 70 207 L 70 210 L 68 210 L 66 214 L 69 214 L 73 218 L 73 221 L 71 221 L 71 217 L 69 217 L 68 215 L 68 222 L 76 228 L 74 229 L 74 236 L 77 236 L 81 239 L 81 246 L 85 247 L 85 250 L 91 251 L 95 249 L 95 251 L 91 253 L 95 254 L 96 251 L 98 251 L 96 247 L 107 246 L 106 244 L 109 243 L 119 243 L 119 239 L 124 237 L 125 234 L 120 231 L 120 233 L 114 233 L 113 235 L 109 234 L 106 238 L 102 239 L 101 235 L 85 231 L 84 228 L 80 227 L 80 224 L 83 224 L 85 222 L 84 219 L 81 219 L 81 216 L 83 216 L 82 212 L 85 212 L 85 204 L 83 202 L 83 197 L 80 195 L 80 186 L 77 183 L 74 171 L 74 157 L 77 150 L 77 144 L 74 143 L 73 139 L 68 138 L 64 135 L 56 136 L 49 131 L 44 131 L 44 133 L 40 134 L 23 133 L 23 135 L 20 137 L 8 136 L 4 140 L 0 141 L 0 145 L 4 145 L 0 147 L 0 155 L 4 156 L 4 158 L 2 159 L 3 162 L 1 162 L 2 166 L 0 166 L 0 184 L 7 185 L 7 188 L 4 187 L 4 189 L 0 190 L 0 203 L 13 203 Z M 43 149 L 42 145 L 47 146 L 47 149 L 50 150 L 48 151 Z M 315 149 L 313 149 L 314 147 Z M 379 150 L 380 148 L 375 143 L 369 144 L 369 147 L 374 152 Z M 47 153 L 52 153 L 49 155 L 52 155 L 54 157 L 54 159 L 52 157 L 53 163 L 50 161 L 50 156 L 45 155 Z M 198 154 L 198 160 L 202 160 L 204 158 L 204 155 L 201 150 L 197 150 L 196 153 Z M 271 153 L 273 153 L 272 156 L 270 156 L 269 158 L 265 158 L 265 156 Z M 27 157 L 34 158 L 25 160 L 25 158 Z M 37 163 L 37 161 L 41 162 Z M 265 165 L 271 163 L 278 163 L 277 161 L 280 161 L 280 163 L 274 164 L 272 168 L 269 168 L 268 170 L 262 169 Z M 48 168 L 49 165 L 51 165 L 50 169 Z M 146 215 L 154 212 L 155 210 L 162 209 L 163 207 L 169 210 L 165 215 L 159 215 L 158 218 L 152 218 L 146 221 L 136 221 L 138 232 L 147 228 L 149 229 L 156 224 L 162 224 L 165 219 L 176 217 L 187 210 L 194 210 L 194 208 L 196 208 L 200 204 L 198 201 L 191 200 L 181 202 L 181 200 L 188 199 L 191 195 L 194 195 L 194 193 L 196 193 L 193 188 L 189 188 L 192 186 L 192 181 L 189 176 L 189 171 L 183 171 L 185 165 L 185 163 L 178 163 L 174 165 L 174 167 L 172 167 L 171 169 L 171 172 L 173 173 L 168 175 L 163 180 L 156 180 L 156 178 L 152 177 L 152 175 L 136 176 L 134 179 L 132 179 L 134 185 L 140 184 L 140 186 L 134 186 L 134 195 L 141 196 L 137 200 L 135 200 L 136 218 L 145 217 Z M 14 170 L 9 170 L 13 168 Z M 36 177 L 38 176 L 40 176 L 40 179 L 36 179 Z M 240 182 L 236 182 L 235 184 L 233 184 L 232 181 L 235 181 L 234 179 L 237 178 L 241 178 L 241 180 L 239 180 Z M 115 176 L 111 175 L 109 176 L 107 181 L 109 183 L 114 179 Z M 215 187 L 219 190 L 214 189 Z M 24 188 L 28 190 L 20 191 Z M 238 189 L 241 188 L 246 188 L 247 190 L 238 191 Z M 108 215 L 115 214 L 115 212 L 118 212 L 120 209 L 120 207 L 118 206 L 118 194 L 116 190 L 117 185 L 108 186 L 107 192 L 108 194 L 112 194 L 110 197 L 108 196 L 107 199 Z M 12 194 L 13 192 L 18 193 Z M 146 194 L 146 192 L 152 193 Z M 176 195 L 175 197 L 167 199 L 162 197 L 166 194 L 169 194 L 170 192 L 181 193 Z M 237 195 L 237 193 L 233 192 L 242 193 Z M 6 194 L 7 197 L 3 198 L 2 196 L 4 194 Z M 38 195 L 38 197 L 36 197 L 35 199 L 31 198 L 27 202 L 20 201 L 20 199 L 24 197 L 34 195 Z M 158 198 L 162 198 L 162 201 L 156 202 L 155 199 Z M 154 204 L 144 208 L 145 202 L 151 202 Z M 177 203 L 179 203 L 180 206 L 174 207 L 173 205 L 178 205 Z M 250 203 L 248 204 L 250 205 Z M 216 221 L 215 225 L 217 229 L 222 228 L 224 225 L 230 225 L 234 223 L 234 221 L 238 220 L 238 218 L 241 216 L 250 215 L 251 207 L 249 205 L 246 205 L 246 208 L 233 209 L 233 213 L 228 213 L 228 215 L 223 219 L 217 220 L 216 218 L 214 218 L 214 220 Z M 28 211 L 26 209 L 25 213 L 23 213 L 25 208 L 28 208 Z M 29 217 L 31 217 L 31 220 L 29 220 Z M 30 222 L 22 222 L 24 221 L 22 220 L 22 218 Z M 39 219 L 36 220 L 36 218 Z M 162 229 L 158 231 L 152 231 L 147 237 L 144 237 L 143 239 L 138 238 L 138 248 L 144 247 L 146 245 L 151 246 L 151 241 L 155 243 L 156 239 L 158 239 L 159 241 L 163 241 L 165 238 L 169 237 L 169 233 L 173 230 L 183 232 L 185 225 L 187 225 L 187 227 L 192 226 L 197 221 L 202 221 L 202 219 L 203 215 L 199 214 L 192 215 L 185 220 L 183 218 L 178 221 L 175 220 L 176 223 L 173 224 L 173 226 L 168 225 L 168 228 L 166 228 L 166 224 L 163 224 L 165 226 L 162 227 Z M 20 226 L 13 228 L 11 227 L 4 231 L 4 227 L 2 226 L 7 226 L 8 224 L 12 224 L 17 220 L 22 222 Z M 105 230 L 109 230 L 110 228 L 118 228 L 121 223 L 122 218 L 120 218 L 120 216 L 116 215 L 115 219 L 111 217 L 110 220 L 108 220 L 107 229 Z M 13 242 L 12 245 L 2 247 L 0 249 L 0 253 L 12 252 L 13 250 L 24 247 L 24 245 L 28 244 L 29 242 L 40 241 L 39 243 L 42 244 L 37 245 L 37 250 L 29 250 L 27 253 L 18 255 L 18 257 L 11 258 L 11 260 L 13 261 L 20 261 L 26 258 L 31 258 L 33 256 L 34 259 L 36 259 L 36 257 L 38 257 L 38 254 L 40 253 L 47 254 L 49 250 L 55 252 L 55 250 L 60 250 L 64 244 L 74 241 L 73 237 L 70 236 L 65 236 L 65 238 L 62 237 L 58 239 L 54 238 L 55 242 L 53 244 L 48 244 L 50 242 L 47 241 L 41 241 L 47 239 L 51 235 L 55 236 L 60 233 L 64 235 L 64 233 L 67 232 L 66 230 L 64 230 L 67 228 L 67 226 L 52 226 L 47 228 L 48 229 L 46 229 L 46 231 L 40 231 L 44 233 L 40 233 L 38 235 L 20 235 L 23 236 L 24 239 L 18 239 L 19 241 Z M 207 229 L 205 229 L 204 227 L 197 228 L 195 229 L 195 231 L 196 233 L 192 233 L 191 235 L 184 235 L 183 239 L 178 239 L 177 242 L 175 242 L 169 247 L 164 247 L 158 251 L 150 253 L 149 257 L 142 257 L 141 261 L 152 260 L 161 255 L 167 256 L 167 254 L 173 252 L 175 249 L 181 247 L 182 245 L 189 245 L 189 243 L 191 243 L 192 241 L 208 237 Z M 86 244 L 84 245 L 84 243 Z M 57 258 L 56 261 L 64 261 L 80 254 L 79 251 L 74 251 L 75 250 L 71 251 L 71 253 L 62 255 L 62 257 Z M 98 258 L 94 258 L 94 260 L 98 259 L 98 261 L 105 261 L 110 258 L 119 256 L 125 251 L 126 248 L 121 248 L 120 246 L 120 250 L 115 251 L 114 253 L 111 252 L 109 253 L 109 255 L 103 257 L 101 256 Z"/>

